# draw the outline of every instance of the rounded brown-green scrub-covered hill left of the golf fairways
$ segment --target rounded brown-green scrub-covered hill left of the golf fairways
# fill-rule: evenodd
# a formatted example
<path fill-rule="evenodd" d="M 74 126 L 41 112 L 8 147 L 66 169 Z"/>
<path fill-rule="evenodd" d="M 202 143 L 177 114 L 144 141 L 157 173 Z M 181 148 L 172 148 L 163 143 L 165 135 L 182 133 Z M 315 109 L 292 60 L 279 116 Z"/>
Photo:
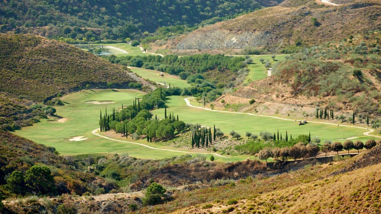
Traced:
<path fill-rule="evenodd" d="M 32 123 L 13 121 L 33 120 L 43 107 L 30 105 L 58 94 L 86 87 L 128 88 L 140 81 L 128 71 L 61 42 L 0 34 L 0 126 L 12 130 Z"/>

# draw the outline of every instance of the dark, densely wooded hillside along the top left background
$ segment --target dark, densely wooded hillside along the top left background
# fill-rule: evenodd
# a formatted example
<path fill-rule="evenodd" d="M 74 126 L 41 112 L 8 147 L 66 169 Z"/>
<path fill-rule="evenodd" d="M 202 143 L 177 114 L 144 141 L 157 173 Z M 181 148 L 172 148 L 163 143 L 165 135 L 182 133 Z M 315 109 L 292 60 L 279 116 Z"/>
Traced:
<path fill-rule="evenodd" d="M 279 2 L 280 0 L 259 3 L 251 0 L 3 1 L 0 2 L 0 30 L 4 32 L 15 29 L 24 33 L 37 32 L 46 37 L 64 36 L 79 40 L 83 37 L 94 37 L 96 40 L 99 37 L 125 39 L 145 31 L 154 32 L 162 26 L 193 27 L 208 19 L 229 18 Z"/>

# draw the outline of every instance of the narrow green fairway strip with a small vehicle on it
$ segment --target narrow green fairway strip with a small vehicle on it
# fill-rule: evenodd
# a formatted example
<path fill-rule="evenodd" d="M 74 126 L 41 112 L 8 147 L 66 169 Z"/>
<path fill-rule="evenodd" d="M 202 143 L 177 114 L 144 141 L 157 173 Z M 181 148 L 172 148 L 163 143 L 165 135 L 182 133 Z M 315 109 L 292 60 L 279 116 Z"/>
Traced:
<path fill-rule="evenodd" d="M 137 68 L 137 67 L 130 67 L 130 69 L 137 73 L 139 76 L 143 77 L 144 79 L 149 79 L 157 83 L 162 83 L 171 86 L 177 86 L 179 88 L 186 88 L 190 85 L 185 80 L 181 80 L 178 76 L 170 75 L 168 73 L 163 72 L 164 77 L 160 77 L 160 71 L 157 70 L 148 70 L 143 68 Z"/>

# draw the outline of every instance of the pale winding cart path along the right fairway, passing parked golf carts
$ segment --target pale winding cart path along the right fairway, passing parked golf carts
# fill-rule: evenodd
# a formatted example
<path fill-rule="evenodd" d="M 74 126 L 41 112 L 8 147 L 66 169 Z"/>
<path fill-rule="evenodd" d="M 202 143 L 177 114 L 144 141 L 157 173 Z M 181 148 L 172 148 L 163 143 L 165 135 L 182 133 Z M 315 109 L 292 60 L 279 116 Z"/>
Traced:
<path fill-rule="evenodd" d="M 247 114 L 247 115 L 251 115 L 251 116 L 271 117 L 271 118 L 275 118 L 275 119 L 279 119 L 279 120 L 295 121 L 295 120 L 292 120 L 292 119 L 282 118 L 282 117 L 274 117 L 274 116 L 268 116 L 268 115 L 257 115 L 257 114 L 252 114 L 252 113 L 243 113 L 243 112 L 229 112 L 229 111 L 214 110 L 214 109 L 208 109 L 208 108 L 204 108 L 204 107 L 194 106 L 194 105 L 192 105 L 191 102 L 189 102 L 189 100 L 188 100 L 188 99 L 194 99 L 194 98 L 195 98 L 195 97 L 184 98 L 184 101 L 185 101 L 186 104 L 187 104 L 188 106 L 190 106 L 190 107 L 199 108 L 199 109 L 205 109 L 205 110 L 213 111 L 213 112 L 224 112 L 224 113 L 235 113 L 235 114 Z M 376 136 L 376 135 L 371 135 L 371 134 L 369 134 L 369 133 L 371 133 L 372 131 L 375 131 L 375 129 L 369 129 L 369 128 L 365 128 L 365 127 L 361 127 L 361 126 L 338 125 L 337 123 L 327 123 L 327 122 L 317 122 L 317 121 L 308 121 L 308 123 L 321 123 L 321 124 L 334 125 L 334 126 L 345 126 L 345 127 L 352 127 L 352 128 L 365 129 L 365 130 L 368 130 L 368 131 L 367 131 L 367 132 L 364 132 L 363 135 L 370 136 L 370 137 L 381 138 L 381 136 Z"/>

